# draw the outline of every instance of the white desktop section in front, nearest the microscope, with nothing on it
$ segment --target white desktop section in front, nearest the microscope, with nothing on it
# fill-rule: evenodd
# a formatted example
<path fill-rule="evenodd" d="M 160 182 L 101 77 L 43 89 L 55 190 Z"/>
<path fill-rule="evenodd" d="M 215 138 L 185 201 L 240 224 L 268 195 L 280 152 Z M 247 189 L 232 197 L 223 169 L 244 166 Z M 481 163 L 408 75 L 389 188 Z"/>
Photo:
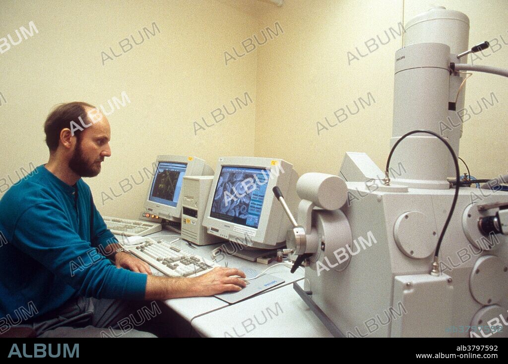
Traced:
<path fill-rule="evenodd" d="M 303 286 L 303 280 L 298 284 Z M 292 284 L 197 317 L 192 326 L 214 338 L 333 337 Z"/>

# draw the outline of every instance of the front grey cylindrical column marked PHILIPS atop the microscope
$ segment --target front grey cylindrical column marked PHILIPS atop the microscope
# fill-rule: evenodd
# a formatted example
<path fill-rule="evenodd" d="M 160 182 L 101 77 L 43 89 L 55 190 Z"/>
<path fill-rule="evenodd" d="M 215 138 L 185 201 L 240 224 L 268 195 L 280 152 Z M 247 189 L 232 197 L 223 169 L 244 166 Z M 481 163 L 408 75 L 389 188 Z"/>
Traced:
<path fill-rule="evenodd" d="M 442 134 L 449 108 L 449 64 L 450 47 L 445 44 L 415 44 L 395 53 L 392 146 L 417 129 Z M 448 189 L 449 154 L 439 139 L 414 134 L 399 144 L 392 165 L 402 164 L 405 185 Z"/>

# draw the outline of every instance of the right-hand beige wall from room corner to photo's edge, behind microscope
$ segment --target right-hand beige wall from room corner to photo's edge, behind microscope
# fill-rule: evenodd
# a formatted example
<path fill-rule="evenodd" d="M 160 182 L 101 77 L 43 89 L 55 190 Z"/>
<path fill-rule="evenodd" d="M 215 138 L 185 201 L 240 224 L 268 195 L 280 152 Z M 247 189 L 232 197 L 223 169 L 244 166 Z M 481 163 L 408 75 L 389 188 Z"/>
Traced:
<path fill-rule="evenodd" d="M 504 0 L 406 0 L 404 22 L 443 5 L 462 11 L 471 22 L 470 45 L 497 38 L 501 49 L 486 52 L 478 64 L 508 67 L 508 3 Z M 281 8 L 264 13 L 262 23 L 279 21 L 284 29 L 281 42 L 270 42 L 258 53 L 258 99 L 256 114 L 256 154 L 288 160 L 302 174 L 309 171 L 337 173 L 346 151 L 363 151 L 381 169 L 386 165 L 392 133 L 394 55 L 401 46 L 396 33 L 391 41 L 371 46 L 365 42 L 379 36 L 387 42 L 385 31 L 398 31 L 402 21 L 402 0 L 287 0 Z M 368 43 L 368 44 L 371 44 Z M 358 47 L 365 57 L 356 54 Z M 347 52 L 359 60 L 348 63 Z M 482 57 L 483 58 L 483 57 Z M 506 173 L 506 102 L 508 80 L 475 74 L 467 83 L 466 105 L 479 110 L 477 100 L 495 92 L 499 103 L 464 125 L 460 156 L 471 174 L 492 177 Z M 363 104 L 360 112 L 349 115 L 345 105 L 356 112 L 354 101 L 367 101 L 371 93 L 375 104 Z M 495 103 L 495 100 L 494 100 Z M 338 124 L 334 111 L 344 108 L 347 119 Z M 471 113 L 471 111 L 469 111 Z M 342 112 L 339 117 L 344 119 Z M 325 122 L 325 117 L 331 125 Z M 317 134 L 316 123 L 329 130 Z M 281 137 L 282 136 L 282 137 Z M 461 170 L 463 167 L 461 166 Z M 464 169 L 465 171 L 465 169 Z"/>

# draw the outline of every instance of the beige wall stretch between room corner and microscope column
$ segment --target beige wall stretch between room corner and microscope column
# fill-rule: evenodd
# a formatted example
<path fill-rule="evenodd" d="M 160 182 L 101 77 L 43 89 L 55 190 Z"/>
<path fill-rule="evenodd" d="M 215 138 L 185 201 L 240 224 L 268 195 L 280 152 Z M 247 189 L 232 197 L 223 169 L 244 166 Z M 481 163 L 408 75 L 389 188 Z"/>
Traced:
<path fill-rule="evenodd" d="M 283 42 L 271 42 L 258 55 L 258 89 L 263 90 L 256 115 L 258 154 L 291 161 L 299 174 L 336 174 L 345 151 L 365 151 L 380 162 L 391 136 L 392 58 L 400 38 L 352 60 L 351 66 L 347 52 L 358 46 L 363 54 L 363 42 L 390 27 L 397 30 L 400 4 L 289 1 L 267 14 L 265 21 L 278 20 L 284 35 Z M 375 104 L 336 122 L 336 110 L 348 104 L 355 113 L 354 101 L 367 101 L 369 92 Z M 329 127 L 325 117 L 338 125 Z M 329 130 L 318 135 L 317 122 Z M 288 140 L 281 143 L 281 135 Z"/>

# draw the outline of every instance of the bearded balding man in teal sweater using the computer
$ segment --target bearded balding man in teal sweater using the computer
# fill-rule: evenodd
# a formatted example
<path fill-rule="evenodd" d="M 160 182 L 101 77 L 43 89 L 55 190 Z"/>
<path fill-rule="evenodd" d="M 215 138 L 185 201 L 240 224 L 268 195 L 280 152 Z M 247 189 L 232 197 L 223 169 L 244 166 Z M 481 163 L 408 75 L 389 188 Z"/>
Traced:
<path fill-rule="evenodd" d="M 111 156 L 110 126 L 100 111 L 83 102 L 61 104 L 44 132 L 48 163 L 0 200 L 0 232 L 7 241 L 0 248 L 0 333 L 23 318 L 43 337 L 104 336 L 108 327 L 114 335 L 117 320 L 132 311 L 127 300 L 210 296 L 245 287 L 238 269 L 154 277 L 148 264 L 117 252 L 118 241 L 81 179 L 97 176 Z"/>

